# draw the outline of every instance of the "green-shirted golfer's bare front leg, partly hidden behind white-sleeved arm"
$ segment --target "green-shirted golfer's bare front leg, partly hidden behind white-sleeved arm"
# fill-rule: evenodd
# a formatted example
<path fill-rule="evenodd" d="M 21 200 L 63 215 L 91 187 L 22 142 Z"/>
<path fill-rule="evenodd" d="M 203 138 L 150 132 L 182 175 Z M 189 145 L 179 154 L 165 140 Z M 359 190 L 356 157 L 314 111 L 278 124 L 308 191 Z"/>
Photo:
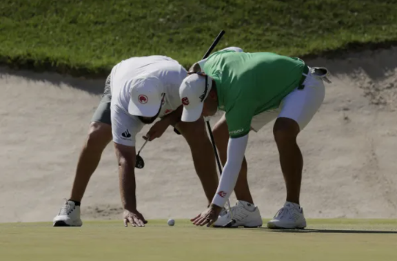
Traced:
<path fill-rule="evenodd" d="M 229 131 L 227 129 L 225 115 L 223 115 L 222 118 L 215 124 L 212 133 L 214 135 L 214 140 L 216 147 L 218 148 L 222 165 L 225 166 L 227 160 L 227 144 L 229 142 Z M 250 192 L 250 186 L 248 186 L 247 160 L 245 160 L 245 157 L 243 164 L 241 165 L 241 171 L 238 174 L 236 186 L 234 187 L 234 193 L 236 193 L 237 200 L 254 204 L 254 200 L 252 200 L 252 195 Z"/>

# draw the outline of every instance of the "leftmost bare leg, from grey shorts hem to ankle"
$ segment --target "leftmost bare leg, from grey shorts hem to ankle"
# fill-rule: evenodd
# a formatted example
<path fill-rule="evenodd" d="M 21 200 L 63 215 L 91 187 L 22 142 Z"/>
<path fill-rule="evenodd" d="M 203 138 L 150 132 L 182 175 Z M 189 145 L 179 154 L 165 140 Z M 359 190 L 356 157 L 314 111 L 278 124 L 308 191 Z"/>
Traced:
<path fill-rule="evenodd" d="M 112 127 L 109 124 L 101 122 L 92 122 L 90 124 L 88 137 L 85 140 L 79 162 L 77 163 L 70 200 L 81 202 L 90 177 L 101 160 L 103 150 L 111 140 Z"/>

